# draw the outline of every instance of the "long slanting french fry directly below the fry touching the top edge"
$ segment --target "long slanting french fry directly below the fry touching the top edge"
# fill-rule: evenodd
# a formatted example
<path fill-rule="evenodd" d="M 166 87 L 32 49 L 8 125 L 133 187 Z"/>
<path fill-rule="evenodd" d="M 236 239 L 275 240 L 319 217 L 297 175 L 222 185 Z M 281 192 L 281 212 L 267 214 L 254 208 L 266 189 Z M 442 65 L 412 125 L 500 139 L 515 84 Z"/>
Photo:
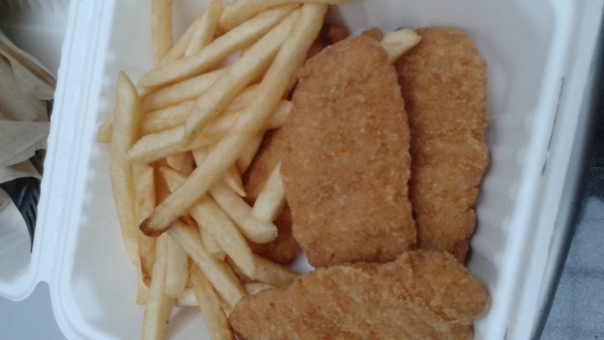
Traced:
<path fill-rule="evenodd" d="M 247 21 L 237 30 L 222 35 L 193 55 L 156 67 L 139 81 L 140 86 L 158 86 L 194 77 L 216 66 L 224 58 L 258 40 L 293 11 L 295 5 L 280 6 Z"/>

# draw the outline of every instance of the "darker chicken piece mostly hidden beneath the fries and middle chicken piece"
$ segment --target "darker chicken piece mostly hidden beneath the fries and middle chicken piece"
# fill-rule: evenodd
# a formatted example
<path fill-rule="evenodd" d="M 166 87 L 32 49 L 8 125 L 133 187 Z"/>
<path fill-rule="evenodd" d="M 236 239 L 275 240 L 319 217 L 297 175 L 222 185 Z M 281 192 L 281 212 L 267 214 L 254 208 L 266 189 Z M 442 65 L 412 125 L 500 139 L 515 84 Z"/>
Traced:
<path fill-rule="evenodd" d="M 347 36 L 348 31 L 343 26 L 324 24 L 319 37 L 313 42 L 308 52 L 308 57 L 317 55 L 325 47 L 333 45 Z M 262 145 L 258 149 L 258 154 L 256 154 L 252 164 L 244 174 L 243 181 L 248 203 L 253 204 L 256 201 L 264 187 L 264 183 L 270 176 L 270 172 L 281 162 L 281 153 L 286 142 L 287 136 L 281 132 L 281 129 L 266 133 Z M 274 224 L 279 232 L 273 242 L 266 244 L 249 242 L 249 244 L 255 254 L 285 265 L 300 254 L 300 245 L 292 234 L 292 213 L 289 206 L 285 205 Z"/>

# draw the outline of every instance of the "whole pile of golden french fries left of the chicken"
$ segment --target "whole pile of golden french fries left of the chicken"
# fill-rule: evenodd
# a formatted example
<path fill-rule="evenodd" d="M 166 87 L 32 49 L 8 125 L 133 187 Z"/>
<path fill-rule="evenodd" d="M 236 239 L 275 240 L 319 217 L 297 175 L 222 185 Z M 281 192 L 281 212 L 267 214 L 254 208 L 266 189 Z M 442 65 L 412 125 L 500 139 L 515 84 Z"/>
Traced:
<path fill-rule="evenodd" d="M 213 0 L 173 44 L 172 0 L 152 0 L 155 67 L 137 86 L 119 74 L 97 136 L 110 143 L 113 198 L 138 268 L 142 339 L 164 339 L 176 306 L 198 306 L 212 339 L 234 339 L 227 317 L 242 297 L 297 277 L 247 243 L 277 237 L 279 166 L 253 206 L 241 174 L 264 132 L 285 123 L 328 6 L 342 2 Z M 392 59 L 417 41 L 399 30 L 382 45 Z"/>

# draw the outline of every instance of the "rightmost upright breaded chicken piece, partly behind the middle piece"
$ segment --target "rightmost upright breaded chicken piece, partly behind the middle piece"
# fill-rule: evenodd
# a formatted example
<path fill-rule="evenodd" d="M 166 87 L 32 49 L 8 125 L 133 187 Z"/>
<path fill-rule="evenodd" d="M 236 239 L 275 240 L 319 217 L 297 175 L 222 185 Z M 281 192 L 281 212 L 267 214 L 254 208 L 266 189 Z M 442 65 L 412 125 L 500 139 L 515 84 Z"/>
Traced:
<path fill-rule="evenodd" d="M 421 28 L 396 63 L 411 127 L 411 203 L 418 247 L 465 261 L 477 186 L 489 164 L 486 62 L 453 28 Z"/>

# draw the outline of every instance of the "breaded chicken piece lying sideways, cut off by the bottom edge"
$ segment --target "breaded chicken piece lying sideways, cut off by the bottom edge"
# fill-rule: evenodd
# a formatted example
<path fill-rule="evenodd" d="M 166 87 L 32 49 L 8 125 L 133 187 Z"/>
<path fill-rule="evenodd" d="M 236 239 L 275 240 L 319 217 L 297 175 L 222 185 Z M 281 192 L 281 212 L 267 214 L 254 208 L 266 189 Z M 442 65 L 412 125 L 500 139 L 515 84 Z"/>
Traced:
<path fill-rule="evenodd" d="M 229 316 L 245 340 L 472 339 L 489 294 L 453 256 L 319 268 L 287 288 L 244 297 Z"/>

